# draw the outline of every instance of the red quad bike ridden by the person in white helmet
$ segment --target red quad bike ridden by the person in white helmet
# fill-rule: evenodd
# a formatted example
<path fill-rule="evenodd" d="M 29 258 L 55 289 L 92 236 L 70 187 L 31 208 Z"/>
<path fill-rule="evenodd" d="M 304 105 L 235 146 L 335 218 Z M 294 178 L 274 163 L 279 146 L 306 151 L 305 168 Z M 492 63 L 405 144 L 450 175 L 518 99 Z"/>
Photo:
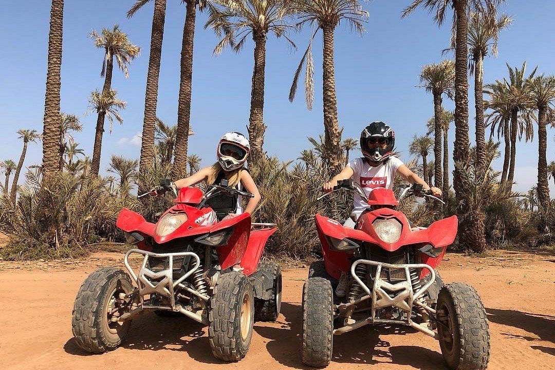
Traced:
<path fill-rule="evenodd" d="M 128 209 L 120 212 L 117 226 L 137 246 L 124 257 L 129 274 L 103 267 L 87 277 L 75 299 L 73 335 L 85 351 L 102 353 L 119 346 L 139 313 L 183 315 L 209 327 L 215 357 L 238 361 L 249 349 L 253 322 L 279 315 L 281 268 L 260 262 L 275 224 L 253 224 L 249 214 L 218 222 L 204 206 L 211 197 L 253 196 L 227 187 L 226 180 L 206 194 L 195 187 L 178 193 L 169 180 L 155 188 L 170 189 L 174 205 L 156 224 Z M 130 266 L 130 255 L 140 255 L 140 267 Z"/>

